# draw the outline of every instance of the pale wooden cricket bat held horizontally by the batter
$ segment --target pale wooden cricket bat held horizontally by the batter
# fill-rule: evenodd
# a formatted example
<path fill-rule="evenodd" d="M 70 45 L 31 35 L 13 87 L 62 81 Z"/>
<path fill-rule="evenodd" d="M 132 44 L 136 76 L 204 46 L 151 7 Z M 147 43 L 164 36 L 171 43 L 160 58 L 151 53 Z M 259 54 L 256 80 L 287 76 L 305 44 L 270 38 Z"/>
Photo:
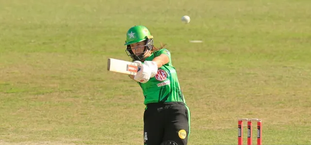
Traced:
<path fill-rule="evenodd" d="M 108 58 L 107 70 L 122 74 L 136 75 L 138 71 L 137 64 L 128 61 Z"/>

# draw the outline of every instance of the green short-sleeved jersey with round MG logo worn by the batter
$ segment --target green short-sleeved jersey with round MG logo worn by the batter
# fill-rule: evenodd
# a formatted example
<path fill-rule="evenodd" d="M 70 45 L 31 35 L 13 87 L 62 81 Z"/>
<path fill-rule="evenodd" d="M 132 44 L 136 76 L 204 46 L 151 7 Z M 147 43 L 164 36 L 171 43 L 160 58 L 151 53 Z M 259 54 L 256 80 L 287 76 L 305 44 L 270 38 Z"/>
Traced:
<path fill-rule="evenodd" d="M 146 83 L 138 82 L 145 97 L 144 104 L 157 102 L 184 102 L 186 104 L 176 70 L 172 65 L 170 51 L 167 49 L 157 50 L 145 61 L 152 61 L 161 54 L 166 54 L 169 57 L 169 63 L 158 68 L 155 77 L 150 78 Z"/>

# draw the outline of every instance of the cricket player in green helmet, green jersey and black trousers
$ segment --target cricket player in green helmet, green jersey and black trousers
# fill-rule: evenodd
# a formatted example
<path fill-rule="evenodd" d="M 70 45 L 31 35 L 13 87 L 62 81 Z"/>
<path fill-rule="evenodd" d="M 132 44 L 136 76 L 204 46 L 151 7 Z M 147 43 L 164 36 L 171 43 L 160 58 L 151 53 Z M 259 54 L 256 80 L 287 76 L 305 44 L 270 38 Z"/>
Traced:
<path fill-rule="evenodd" d="M 126 52 L 140 70 L 130 78 L 137 81 L 145 97 L 144 145 L 187 145 L 190 110 L 181 91 L 171 53 L 144 26 L 127 31 Z"/>

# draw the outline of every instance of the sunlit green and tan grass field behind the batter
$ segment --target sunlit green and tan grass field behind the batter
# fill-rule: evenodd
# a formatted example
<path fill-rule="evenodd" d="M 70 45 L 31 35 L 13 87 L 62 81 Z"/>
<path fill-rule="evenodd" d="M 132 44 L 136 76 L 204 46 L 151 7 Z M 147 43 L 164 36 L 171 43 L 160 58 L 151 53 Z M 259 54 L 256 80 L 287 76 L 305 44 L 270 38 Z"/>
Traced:
<path fill-rule="evenodd" d="M 142 145 L 140 87 L 106 63 L 130 60 L 126 31 L 144 25 L 171 51 L 189 145 L 236 145 L 242 117 L 263 120 L 264 145 L 310 145 L 310 14 L 310 0 L 0 0 L 0 144 Z"/>

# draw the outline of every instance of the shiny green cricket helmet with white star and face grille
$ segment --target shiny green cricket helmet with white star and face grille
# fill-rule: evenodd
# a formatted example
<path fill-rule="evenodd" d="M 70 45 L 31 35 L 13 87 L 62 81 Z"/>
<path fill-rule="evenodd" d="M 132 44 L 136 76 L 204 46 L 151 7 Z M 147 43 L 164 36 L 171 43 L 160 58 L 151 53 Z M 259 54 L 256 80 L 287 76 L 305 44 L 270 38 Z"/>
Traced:
<path fill-rule="evenodd" d="M 131 48 L 131 44 L 141 41 L 146 41 L 146 45 L 137 48 L 145 47 L 144 51 L 141 54 L 136 55 L 133 52 L 133 49 L 137 48 Z M 150 51 L 154 47 L 154 39 L 145 26 L 134 26 L 127 31 L 124 45 L 127 46 L 125 50 L 127 55 L 130 56 L 133 61 L 139 61 L 145 56 L 145 52 Z"/>

